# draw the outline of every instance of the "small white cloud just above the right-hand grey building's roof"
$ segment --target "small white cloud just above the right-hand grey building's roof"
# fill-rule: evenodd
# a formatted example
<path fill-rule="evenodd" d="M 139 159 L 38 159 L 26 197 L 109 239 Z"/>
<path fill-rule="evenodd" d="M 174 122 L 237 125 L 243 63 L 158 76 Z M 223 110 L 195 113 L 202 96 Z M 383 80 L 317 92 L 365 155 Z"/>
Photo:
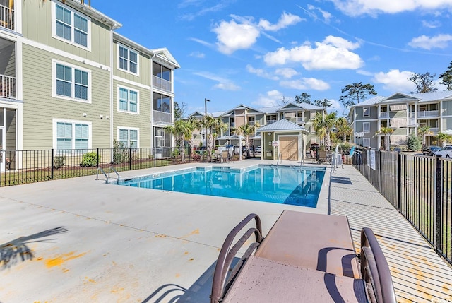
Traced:
<path fill-rule="evenodd" d="M 382 83 L 383 88 L 393 92 L 408 92 L 415 90 L 415 83 L 408 80 L 411 78 L 412 71 L 399 71 L 398 69 L 391 69 L 387 73 L 380 71 L 374 75 L 372 79 L 376 83 Z"/>

